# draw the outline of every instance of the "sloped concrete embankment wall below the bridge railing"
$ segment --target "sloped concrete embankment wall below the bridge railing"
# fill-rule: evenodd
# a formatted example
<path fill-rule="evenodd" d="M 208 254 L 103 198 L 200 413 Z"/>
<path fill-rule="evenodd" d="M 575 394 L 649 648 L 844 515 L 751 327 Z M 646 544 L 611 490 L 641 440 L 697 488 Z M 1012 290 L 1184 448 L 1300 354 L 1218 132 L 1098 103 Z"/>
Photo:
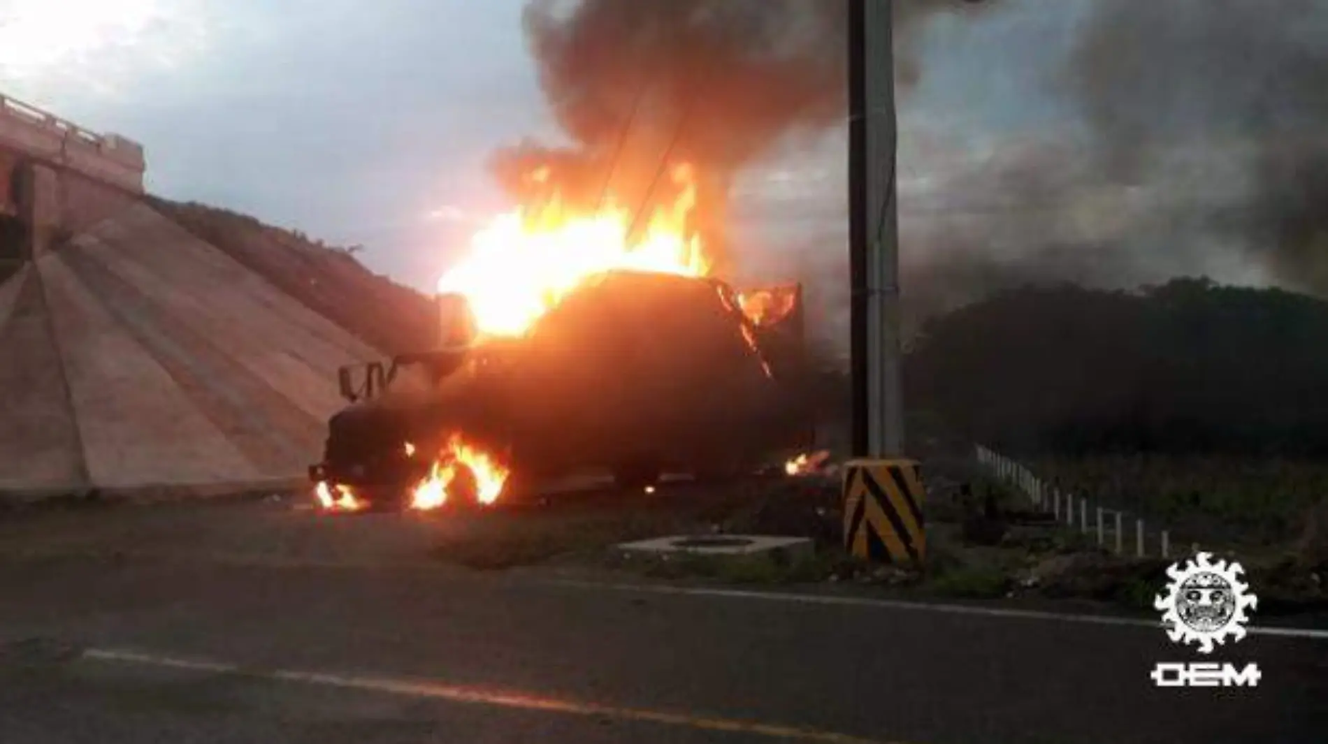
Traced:
<path fill-rule="evenodd" d="M 297 483 L 378 350 L 142 200 L 0 282 L 0 496 Z M 105 196 L 105 195 L 104 195 Z"/>

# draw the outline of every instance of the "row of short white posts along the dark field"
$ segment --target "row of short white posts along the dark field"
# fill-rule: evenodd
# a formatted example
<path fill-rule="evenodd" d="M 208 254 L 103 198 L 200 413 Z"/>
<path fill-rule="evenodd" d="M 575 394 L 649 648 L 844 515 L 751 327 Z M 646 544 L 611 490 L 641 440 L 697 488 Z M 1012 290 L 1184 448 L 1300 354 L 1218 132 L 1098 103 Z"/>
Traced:
<path fill-rule="evenodd" d="M 1070 529 L 1078 529 L 1084 534 L 1094 534 L 1097 544 L 1101 546 L 1106 546 L 1108 534 L 1110 534 L 1113 549 L 1118 554 L 1125 554 L 1126 532 L 1129 530 L 1126 525 L 1131 516 L 1129 512 L 1090 504 L 1086 497 L 1077 497 L 1074 493 L 1061 491 L 1044 481 L 1019 462 L 988 450 L 981 444 L 976 446 L 976 456 L 979 464 L 987 467 L 999 480 L 1013 485 L 1020 493 L 1028 497 L 1035 508 L 1049 511 L 1057 523 Z M 1089 517 L 1090 513 L 1093 515 L 1092 519 Z M 1142 558 L 1149 556 L 1149 529 L 1143 523 L 1143 517 L 1135 516 L 1133 521 L 1134 534 L 1131 537 L 1134 554 Z M 1171 534 L 1169 530 L 1162 529 L 1158 532 L 1155 549 L 1157 556 L 1163 558 L 1171 557 Z"/>

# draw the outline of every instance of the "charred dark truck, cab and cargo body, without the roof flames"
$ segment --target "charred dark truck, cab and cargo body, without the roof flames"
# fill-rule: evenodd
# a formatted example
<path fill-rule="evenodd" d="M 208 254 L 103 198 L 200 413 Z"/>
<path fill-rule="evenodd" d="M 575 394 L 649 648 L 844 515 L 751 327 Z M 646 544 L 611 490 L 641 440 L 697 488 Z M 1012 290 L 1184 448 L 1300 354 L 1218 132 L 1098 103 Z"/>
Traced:
<path fill-rule="evenodd" d="M 341 370 L 353 402 L 328 422 L 313 480 L 396 500 L 458 434 L 518 483 L 599 471 L 627 488 L 738 475 L 810 446 L 801 313 L 761 325 L 724 282 L 610 272 L 521 338 L 475 340 L 463 302 L 440 305 L 440 349 L 365 367 L 360 386 Z"/>

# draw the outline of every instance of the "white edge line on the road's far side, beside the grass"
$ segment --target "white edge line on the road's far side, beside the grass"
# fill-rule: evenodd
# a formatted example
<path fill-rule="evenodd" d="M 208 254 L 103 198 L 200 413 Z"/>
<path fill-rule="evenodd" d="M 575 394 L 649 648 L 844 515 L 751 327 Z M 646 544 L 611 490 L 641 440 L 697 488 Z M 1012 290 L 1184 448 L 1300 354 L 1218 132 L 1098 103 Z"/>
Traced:
<path fill-rule="evenodd" d="M 795 594 L 790 591 L 752 591 L 745 589 L 717 589 L 717 588 L 704 588 L 704 586 L 610 584 L 610 582 L 576 581 L 576 580 L 544 580 L 540 581 L 540 584 L 548 584 L 554 586 L 567 586 L 574 589 L 586 589 L 586 590 L 603 589 L 611 591 L 635 591 L 635 593 L 675 594 L 675 595 L 693 595 L 693 597 L 721 597 L 728 599 L 758 599 L 764 602 L 789 602 L 801 605 L 838 605 L 849 607 L 875 607 L 883 610 L 946 613 L 956 615 L 977 615 L 989 618 L 1058 621 L 1058 622 L 1078 622 L 1088 625 L 1117 625 L 1117 626 L 1154 627 L 1154 629 L 1162 627 L 1162 623 L 1159 621 L 1149 621 L 1142 618 L 1049 613 L 1042 610 L 1017 610 L 1012 607 L 979 607 L 973 605 L 946 605 L 946 603 L 918 602 L 907 599 L 880 599 L 874 597 L 845 597 L 835 594 Z M 1319 630 L 1311 627 L 1274 627 L 1274 626 L 1251 625 L 1246 630 L 1248 630 L 1251 635 L 1276 635 L 1283 638 L 1328 641 L 1328 630 Z"/>

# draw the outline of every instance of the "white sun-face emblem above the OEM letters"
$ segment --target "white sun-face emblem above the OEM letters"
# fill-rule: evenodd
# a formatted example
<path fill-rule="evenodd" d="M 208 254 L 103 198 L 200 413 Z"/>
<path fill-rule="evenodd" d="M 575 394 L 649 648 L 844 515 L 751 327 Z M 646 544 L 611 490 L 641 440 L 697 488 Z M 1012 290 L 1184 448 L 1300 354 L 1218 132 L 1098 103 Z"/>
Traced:
<path fill-rule="evenodd" d="M 1227 635 L 1244 638 L 1244 623 L 1250 622 L 1246 610 L 1255 609 L 1259 599 L 1240 581 L 1240 564 L 1211 558 L 1211 553 L 1199 553 L 1185 568 L 1173 564 L 1166 570 L 1171 578 L 1167 593 L 1153 602 L 1162 610 L 1171 641 L 1198 642 L 1201 654 L 1211 654 L 1212 645 L 1224 643 Z"/>

